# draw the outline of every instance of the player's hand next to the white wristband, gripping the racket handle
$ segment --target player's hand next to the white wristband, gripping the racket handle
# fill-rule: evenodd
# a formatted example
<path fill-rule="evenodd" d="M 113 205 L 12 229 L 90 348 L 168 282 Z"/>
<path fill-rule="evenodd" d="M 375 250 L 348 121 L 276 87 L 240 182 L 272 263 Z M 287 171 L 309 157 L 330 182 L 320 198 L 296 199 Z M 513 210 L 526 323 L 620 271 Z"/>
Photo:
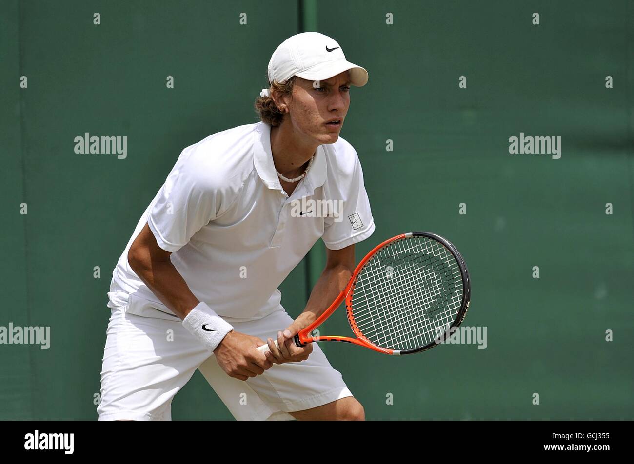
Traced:
<path fill-rule="evenodd" d="M 216 347 L 214 354 L 220 367 L 229 377 L 247 380 L 273 366 L 273 361 L 257 351 L 264 340 L 231 330 Z"/>

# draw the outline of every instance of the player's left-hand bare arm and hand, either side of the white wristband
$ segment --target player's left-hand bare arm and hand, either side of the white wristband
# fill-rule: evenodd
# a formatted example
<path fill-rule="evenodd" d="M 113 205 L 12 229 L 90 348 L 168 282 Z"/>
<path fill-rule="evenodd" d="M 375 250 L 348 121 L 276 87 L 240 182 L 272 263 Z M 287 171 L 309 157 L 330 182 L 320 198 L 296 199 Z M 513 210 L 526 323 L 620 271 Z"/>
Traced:
<path fill-rule="evenodd" d="M 127 261 L 157 298 L 174 314 L 185 319 L 200 301 L 172 264 L 170 255 L 171 252 L 159 247 L 152 230 L 145 224 L 129 249 Z M 214 354 L 230 377 L 247 380 L 273 365 L 254 348 L 262 344 L 261 338 L 231 330 L 214 349 Z"/>

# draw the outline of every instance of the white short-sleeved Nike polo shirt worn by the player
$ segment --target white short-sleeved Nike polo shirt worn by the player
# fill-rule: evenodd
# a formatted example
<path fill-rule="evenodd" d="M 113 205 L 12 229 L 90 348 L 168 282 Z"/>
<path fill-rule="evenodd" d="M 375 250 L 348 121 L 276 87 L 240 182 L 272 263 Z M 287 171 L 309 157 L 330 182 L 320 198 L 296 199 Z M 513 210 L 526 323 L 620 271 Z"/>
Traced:
<path fill-rule="evenodd" d="M 185 148 L 113 271 L 108 306 L 178 318 L 127 262 L 146 222 L 191 292 L 230 323 L 278 309 L 278 286 L 320 237 L 338 250 L 375 229 L 352 145 L 341 137 L 320 145 L 289 198 L 273 165 L 271 126 L 263 122 Z"/>

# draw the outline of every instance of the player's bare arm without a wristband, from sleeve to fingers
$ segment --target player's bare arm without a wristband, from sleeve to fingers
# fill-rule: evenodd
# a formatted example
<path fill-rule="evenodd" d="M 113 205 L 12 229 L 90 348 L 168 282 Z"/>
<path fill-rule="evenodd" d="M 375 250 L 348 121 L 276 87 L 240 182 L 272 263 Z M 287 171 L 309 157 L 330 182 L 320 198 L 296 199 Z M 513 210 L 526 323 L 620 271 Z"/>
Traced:
<path fill-rule="evenodd" d="M 340 250 L 326 248 L 326 266 L 320 278 L 315 283 L 306 308 L 285 330 L 278 333 L 278 349 L 271 338 L 266 340 L 269 345 L 267 359 L 276 364 L 295 363 L 304 361 L 313 352 L 313 344 L 297 347 L 293 337 L 328 309 L 328 306 L 346 288 L 350 276 L 354 272 L 354 243 Z"/>

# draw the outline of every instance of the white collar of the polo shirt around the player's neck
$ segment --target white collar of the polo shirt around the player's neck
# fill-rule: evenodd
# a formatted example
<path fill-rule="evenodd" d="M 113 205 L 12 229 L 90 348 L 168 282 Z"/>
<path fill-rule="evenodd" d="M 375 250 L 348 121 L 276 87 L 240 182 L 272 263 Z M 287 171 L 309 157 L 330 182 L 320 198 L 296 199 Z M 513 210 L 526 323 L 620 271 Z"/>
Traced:
<path fill-rule="evenodd" d="M 280 179 L 273 164 L 273 153 L 271 152 L 271 126 L 264 122 L 258 122 L 253 129 L 253 161 L 256 165 L 257 174 L 268 188 L 282 190 Z M 326 152 L 323 145 L 315 150 L 313 165 L 308 174 L 303 179 L 315 189 L 321 187 L 326 181 Z"/>

